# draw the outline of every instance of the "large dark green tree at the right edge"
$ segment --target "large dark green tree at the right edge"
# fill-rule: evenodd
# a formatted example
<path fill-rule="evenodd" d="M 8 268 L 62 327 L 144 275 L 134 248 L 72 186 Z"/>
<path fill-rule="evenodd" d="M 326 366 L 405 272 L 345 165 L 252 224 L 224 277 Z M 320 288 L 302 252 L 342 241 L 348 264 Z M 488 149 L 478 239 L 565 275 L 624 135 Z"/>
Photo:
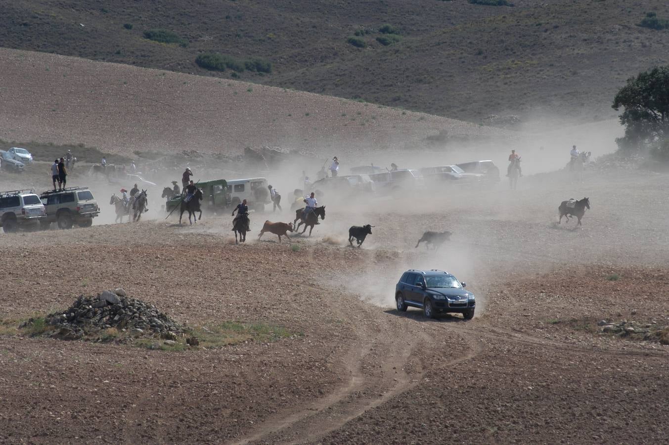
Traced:
<path fill-rule="evenodd" d="M 669 137 L 669 66 L 628 79 L 613 99 L 613 109 L 620 108 L 624 109 L 620 123 L 625 126 L 625 136 L 616 139 L 620 149 L 662 145 Z"/>

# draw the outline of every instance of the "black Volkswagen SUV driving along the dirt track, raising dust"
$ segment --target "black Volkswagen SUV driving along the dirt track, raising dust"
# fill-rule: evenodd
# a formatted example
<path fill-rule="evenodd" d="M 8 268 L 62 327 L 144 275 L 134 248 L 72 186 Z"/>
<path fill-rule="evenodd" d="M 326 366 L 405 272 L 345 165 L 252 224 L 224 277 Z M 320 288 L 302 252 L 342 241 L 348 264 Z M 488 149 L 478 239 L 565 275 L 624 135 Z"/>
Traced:
<path fill-rule="evenodd" d="M 444 270 L 409 269 L 395 286 L 397 310 L 408 306 L 422 308 L 425 317 L 432 319 L 438 313 L 460 313 L 465 320 L 474 318 L 474 294 L 464 290 L 465 283 Z"/>

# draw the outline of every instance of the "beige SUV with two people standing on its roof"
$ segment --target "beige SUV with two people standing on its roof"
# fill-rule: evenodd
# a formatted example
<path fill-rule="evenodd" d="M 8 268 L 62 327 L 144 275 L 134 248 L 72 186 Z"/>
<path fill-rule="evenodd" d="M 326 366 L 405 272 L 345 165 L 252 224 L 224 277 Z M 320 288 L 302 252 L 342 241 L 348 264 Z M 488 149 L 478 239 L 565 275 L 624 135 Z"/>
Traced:
<path fill-rule="evenodd" d="M 41 221 L 42 228 L 48 228 L 53 222 L 61 229 L 71 229 L 74 224 L 90 227 L 93 218 L 100 214 L 98 202 L 88 187 L 45 191 L 40 198 L 46 208 L 46 218 Z"/>

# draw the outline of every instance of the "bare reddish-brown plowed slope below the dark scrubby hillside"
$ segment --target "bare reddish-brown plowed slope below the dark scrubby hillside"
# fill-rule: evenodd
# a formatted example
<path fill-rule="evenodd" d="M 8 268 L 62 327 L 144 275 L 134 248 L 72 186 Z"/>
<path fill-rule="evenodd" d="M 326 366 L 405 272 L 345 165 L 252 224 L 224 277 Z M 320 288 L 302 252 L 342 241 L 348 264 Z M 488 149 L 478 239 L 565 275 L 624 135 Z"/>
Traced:
<path fill-rule="evenodd" d="M 103 151 L 242 153 L 281 145 L 319 155 L 422 147 L 439 132 L 513 132 L 330 96 L 53 54 L 0 49 L 0 139 Z"/>

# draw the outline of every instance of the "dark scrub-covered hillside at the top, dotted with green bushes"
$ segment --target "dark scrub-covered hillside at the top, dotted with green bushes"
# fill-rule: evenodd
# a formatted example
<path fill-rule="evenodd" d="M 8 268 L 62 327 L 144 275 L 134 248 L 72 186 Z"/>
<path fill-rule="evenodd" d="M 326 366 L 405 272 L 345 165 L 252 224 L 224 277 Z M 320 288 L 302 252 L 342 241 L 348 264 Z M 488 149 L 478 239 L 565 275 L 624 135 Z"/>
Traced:
<path fill-rule="evenodd" d="M 669 17 L 666 3 L 514 3 L 25 0 L 0 5 L 0 41 L 470 120 L 506 112 L 608 118 L 611 98 L 626 78 L 669 62 L 669 33 L 636 26 L 646 11 Z M 378 32 L 383 23 L 393 25 L 401 41 L 381 45 L 376 38 L 384 36 Z M 146 39 L 144 31 L 153 28 L 175 31 L 187 45 Z M 367 48 L 347 43 L 355 31 L 362 31 Z M 207 72 L 194 62 L 201 52 L 260 58 L 273 70 Z"/>

